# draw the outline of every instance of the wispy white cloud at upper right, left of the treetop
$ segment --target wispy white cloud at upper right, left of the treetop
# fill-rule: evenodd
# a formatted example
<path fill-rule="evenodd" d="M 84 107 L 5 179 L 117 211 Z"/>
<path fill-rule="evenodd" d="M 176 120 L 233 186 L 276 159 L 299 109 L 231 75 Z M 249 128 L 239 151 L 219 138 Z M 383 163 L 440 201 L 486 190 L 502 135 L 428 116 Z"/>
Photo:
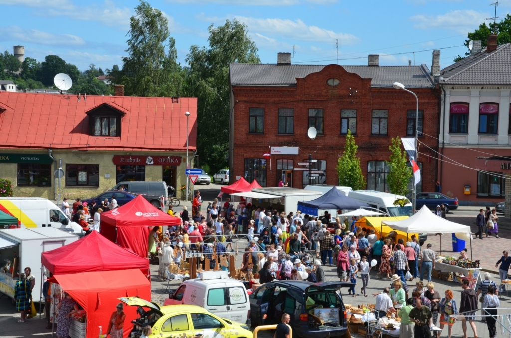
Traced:
<path fill-rule="evenodd" d="M 472 10 L 452 11 L 442 15 L 415 15 L 410 20 L 415 22 L 413 27 L 417 29 L 450 29 L 461 34 L 467 34 L 477 28 L 488 14 Z"/>

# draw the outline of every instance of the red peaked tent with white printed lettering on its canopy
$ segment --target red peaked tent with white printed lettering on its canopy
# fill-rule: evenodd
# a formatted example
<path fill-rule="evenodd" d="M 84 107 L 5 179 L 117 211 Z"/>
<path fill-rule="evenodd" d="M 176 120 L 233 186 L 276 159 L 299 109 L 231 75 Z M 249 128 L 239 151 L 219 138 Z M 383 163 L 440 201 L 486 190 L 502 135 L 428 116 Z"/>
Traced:
<path fill-rule="evenodd" d="M 179 224 L 180 218 L 156 209 L 138 195 L 122 207 L 101 213 L 100 233 L 138 256 L 147 257 L 151 227 Z"/>

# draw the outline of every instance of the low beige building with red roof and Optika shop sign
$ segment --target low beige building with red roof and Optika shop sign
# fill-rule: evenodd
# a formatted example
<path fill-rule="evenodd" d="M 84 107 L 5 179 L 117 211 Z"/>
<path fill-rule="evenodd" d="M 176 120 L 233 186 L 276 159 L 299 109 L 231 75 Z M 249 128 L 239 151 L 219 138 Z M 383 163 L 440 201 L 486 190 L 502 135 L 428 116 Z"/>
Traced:
<path fill-rule="evenodd" d="M 14 196 L 90 198 L 121 181 L 185 185 L 197 100 L 117 93 L 0 92 L 0 177 L 12 182 Z"/>

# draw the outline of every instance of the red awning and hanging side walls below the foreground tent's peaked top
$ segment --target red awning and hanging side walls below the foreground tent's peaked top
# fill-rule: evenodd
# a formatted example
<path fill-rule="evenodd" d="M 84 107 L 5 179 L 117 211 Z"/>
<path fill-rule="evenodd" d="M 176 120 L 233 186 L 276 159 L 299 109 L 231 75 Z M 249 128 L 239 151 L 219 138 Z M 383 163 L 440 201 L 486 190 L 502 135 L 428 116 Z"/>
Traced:
<path fill-rule="evenodd" d="M 99 336 L 99 326 L 106 334 L 108 321 L 120 297 L 138 296 L 151 299 L 151 282 L 137 269 L 81 272 L 77 274 L 55 275 L 54 279 L 62 289 L 87 312 L 87 338 Z M 124 338 L 128 337 L 136 319 L 136 307 L 125 306 Z"/>

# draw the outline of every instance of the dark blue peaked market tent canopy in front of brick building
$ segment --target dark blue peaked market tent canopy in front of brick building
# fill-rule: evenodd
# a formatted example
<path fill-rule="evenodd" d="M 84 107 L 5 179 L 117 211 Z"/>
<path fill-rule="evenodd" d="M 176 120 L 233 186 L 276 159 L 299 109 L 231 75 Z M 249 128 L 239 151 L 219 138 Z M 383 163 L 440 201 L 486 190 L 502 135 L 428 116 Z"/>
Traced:
<path fill-rule="evenodd" d="M 318 199 L 298 202 L 298 211 L 311 216 L 319 216 L 319 210 L 355 210 L 369 205 L 349 198 L 333 187 Z"/>

